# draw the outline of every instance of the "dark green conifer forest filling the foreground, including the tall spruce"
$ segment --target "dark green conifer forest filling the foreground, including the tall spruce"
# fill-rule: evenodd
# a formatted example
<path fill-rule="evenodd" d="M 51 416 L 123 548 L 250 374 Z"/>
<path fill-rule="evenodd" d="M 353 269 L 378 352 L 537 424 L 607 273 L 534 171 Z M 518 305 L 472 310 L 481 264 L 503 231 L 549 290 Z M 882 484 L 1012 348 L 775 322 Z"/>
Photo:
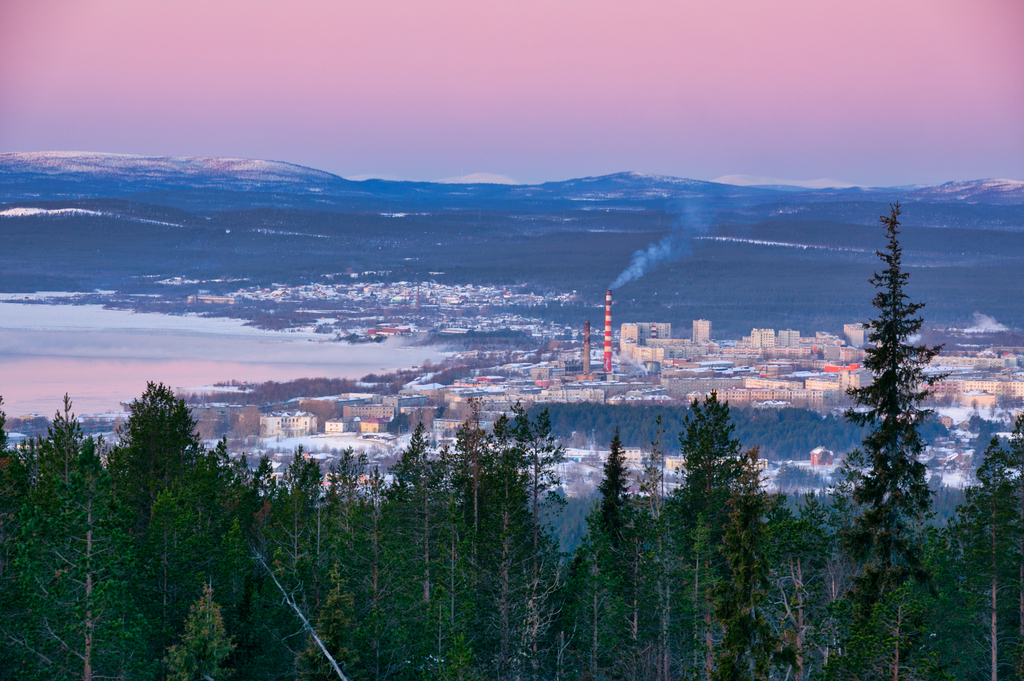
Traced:
<path fill-rule="evenodd" d="M 824 496 L 766 493 L 715 393 L 651 424 L 639 472 L 614 434 L 568 554 L 546 412 L 439 449 L 421 426 L 387 478 L 352 453 L 327 479 L 250 469 L 159 384 L 113 443 L 70 401 L 45 438 L 0 430 L 0 679 L 1024 677 L 1024 417 L 931 521 L 938 349 L 914 344 L 898 205 L 882 223 L 874 382 L 847 415 L 866 434 Z"/>

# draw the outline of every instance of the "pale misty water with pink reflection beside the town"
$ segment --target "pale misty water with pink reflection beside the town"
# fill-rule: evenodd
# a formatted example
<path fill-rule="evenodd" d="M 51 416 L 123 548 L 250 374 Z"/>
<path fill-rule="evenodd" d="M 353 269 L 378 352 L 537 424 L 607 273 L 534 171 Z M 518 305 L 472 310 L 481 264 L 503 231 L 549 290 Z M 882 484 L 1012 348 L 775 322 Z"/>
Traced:
<path fill-rule="evenodd" d="M 0 301 L 0 396 L 8 416 L 52 417 L 67 392 L 78 414 L 120 411 L 146 381 L 194 388 L 218 381 L 358 378 L 438 361 L 433 347 L 324 342 L 238 320 Z"/>

